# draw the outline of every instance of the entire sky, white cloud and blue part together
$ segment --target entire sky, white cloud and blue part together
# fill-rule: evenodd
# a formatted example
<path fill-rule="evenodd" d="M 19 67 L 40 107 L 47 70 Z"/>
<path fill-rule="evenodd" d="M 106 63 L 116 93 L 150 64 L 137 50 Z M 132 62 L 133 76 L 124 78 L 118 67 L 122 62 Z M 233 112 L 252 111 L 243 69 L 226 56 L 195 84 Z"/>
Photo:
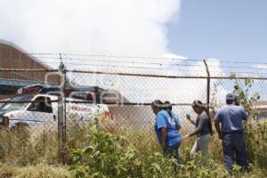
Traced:
<path fill-rule="evenodd" d="M 106 65 L 109 71 L 116 68 L 107 61 L 116 61 L 116 64 L 120 63 L 118 61 L 157 61 L 169 65 L 171 69 L 162 72 L 163 65 L 158 67 L 162 69 L 159 70 L 153 69 L 158 64 L 131 63 L 129 67 L 142 69 L 119 68 L 115 71 L 175 76 L 196 75 L 192 73 L 197 72 L 197 75 L 206 76 L 203 62 L 190 59 L 207 59 L 219 75 L 239 72 L 238 69 L 248 71 L 247 67 L 253 67 L 250 70 L 255 72 L 259 66 L 267 69 L 267 65 L 248 63 L 241 66 L 223 61 L 267 63 L 266 7 L 264 0 L 0 0 L 0 38 L 19 45 L 28 53 L 126 56 L 89 58 L 76 55 L 81 61 L 71 60 L 87 69 L 96 68 L 92 65 L 93 61 L 88 61 L 95 59 L 95 63 Z M 43 60 L 41 57 L 44 56 L 37 57 Z M 169 60 L 173 58 L 181 61 Z M 179 71 L 174 71 L 178 68 L 177 64 L 180 64 Z M 234 69 L 224 68 L 223 65 Z M 76 66 L 69 63 L 68 67 Z M 140 81 L 139 85 L 135 85 L 135 80 L 117 82 L 117 88 L 126 93 L 133 85 L 134 91 L 143 91 L 143 86 L 147 84 L 148 91 L 154 90 L 151 84 L 156 81 L 153 79 L 150 83 Z M 190 101 L 206 89 L 206 83 L 200 86 L 189 80 L 176 81 L 182 91 L 195 94 L 189 95 Z M 164 80 L 160 87 L 171 84 Z M 199 92 L 195 90 L 196 85 Z M 225 87 L 222 86 L 221 90 L 221 93 L 226 93 Z M 170 89 L 165 93 L 173 91 Z M 181 101 L 186 93 L 176 90 L 177 101 Z M 162 98 L 172 99 L 172 95 Z"/>

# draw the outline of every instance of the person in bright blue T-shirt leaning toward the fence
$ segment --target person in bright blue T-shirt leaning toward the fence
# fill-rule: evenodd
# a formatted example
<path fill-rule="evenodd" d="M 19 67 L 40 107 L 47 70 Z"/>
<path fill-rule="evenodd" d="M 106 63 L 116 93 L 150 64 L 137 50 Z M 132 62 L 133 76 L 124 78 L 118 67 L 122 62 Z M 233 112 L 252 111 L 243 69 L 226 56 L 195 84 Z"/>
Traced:
<path fill-rule="evenodd" d="M 171 103 L 166 101 L 164 104 L 156 100 L 152 102 L 151 109 L 156 114 L 154 128 L 163 152 L 178 159 L 178 149 L 182 141 L 179 134 L 181 125 L 178 117 L 172 113 Z"/>

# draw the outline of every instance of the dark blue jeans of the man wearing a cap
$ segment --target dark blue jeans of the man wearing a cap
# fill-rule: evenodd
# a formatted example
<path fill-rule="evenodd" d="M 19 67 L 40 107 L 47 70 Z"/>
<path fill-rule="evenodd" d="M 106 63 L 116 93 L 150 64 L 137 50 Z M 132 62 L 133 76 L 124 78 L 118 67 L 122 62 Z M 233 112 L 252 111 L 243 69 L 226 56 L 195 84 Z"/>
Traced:
<path fill-rule="evenodd" d="M 223 134 L 223 161 L 228 171 L 232 170 L 235 160 L 234 154 L 238 165 L 242 169 L 247 169 L 248 163 L 243 133 Z"/>

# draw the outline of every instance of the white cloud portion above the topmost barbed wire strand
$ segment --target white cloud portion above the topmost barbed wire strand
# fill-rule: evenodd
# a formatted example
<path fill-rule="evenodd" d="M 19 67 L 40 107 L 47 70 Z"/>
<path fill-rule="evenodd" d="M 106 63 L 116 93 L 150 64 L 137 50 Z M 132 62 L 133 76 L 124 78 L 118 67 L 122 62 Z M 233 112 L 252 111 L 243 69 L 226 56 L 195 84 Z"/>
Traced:
<path fill-rule="evenodd" d="M 180 0 L 0 0 L 0 36 L 29 53 L 158 56 Z"/>

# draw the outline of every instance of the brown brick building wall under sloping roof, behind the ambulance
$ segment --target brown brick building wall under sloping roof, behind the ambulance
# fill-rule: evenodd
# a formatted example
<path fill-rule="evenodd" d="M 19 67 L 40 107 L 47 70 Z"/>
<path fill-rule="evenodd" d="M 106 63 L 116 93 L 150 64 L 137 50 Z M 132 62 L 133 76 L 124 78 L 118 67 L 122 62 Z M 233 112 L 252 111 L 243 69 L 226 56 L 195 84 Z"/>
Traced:
<path fill-rule="evenodd" d="M 51 70 L 49 66 L 45 65 L 42 61 L 37 60 L 32 55 L 25 52 L 16 44 L 7 42 L 0 39 L 0 69 L 47 69 Z M 43 83 L 45 75 L 49 71 L 0 71 L 0 100 L 10 98 L 14 94 L 14 90 L 18 89 L 21 81 L 27 83 Z M 59 77 L 53 75 L 45 82 L 59 83 Z M 6 85 L 6 81 L 13 81 L 14 84 Z M 17 81 L 17 82 L 16 82 Z M 16 84 L 18 83 L 18 84 Z M 10 93 L 6 92 L 6 87 L 10 87 Z M 1 91 L 2 88 L 2 91 Z M 5 91 L 4 91 L 5 88 Z"/>

